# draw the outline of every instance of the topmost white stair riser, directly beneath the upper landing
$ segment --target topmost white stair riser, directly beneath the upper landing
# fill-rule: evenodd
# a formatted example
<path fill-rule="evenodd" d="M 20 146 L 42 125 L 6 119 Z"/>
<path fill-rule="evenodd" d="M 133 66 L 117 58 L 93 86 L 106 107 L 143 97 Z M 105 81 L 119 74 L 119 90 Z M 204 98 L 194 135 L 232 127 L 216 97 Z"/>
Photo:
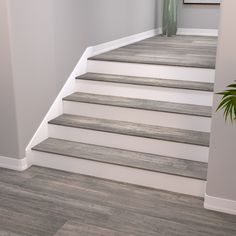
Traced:
<path fill-rule="evenodd" d="M 87 72 L 212 83 L 215 81 L 214 69 L 181 66 L 88 60 Z"/>

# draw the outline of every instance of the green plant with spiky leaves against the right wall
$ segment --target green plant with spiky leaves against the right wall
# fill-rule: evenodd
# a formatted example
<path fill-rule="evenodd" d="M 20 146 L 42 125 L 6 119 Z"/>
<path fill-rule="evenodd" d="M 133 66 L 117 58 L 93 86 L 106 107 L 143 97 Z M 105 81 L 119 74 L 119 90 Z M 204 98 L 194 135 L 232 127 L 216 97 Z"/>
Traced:
<path fill-rule="evenodd" d="M 225 91 L 217 93 L 223 97 L 216 111 L 224 110 L 225 121 L 230 119 L 233 123 L 236 122 L 236 83 L 230 84 L 227 88 Z"/>

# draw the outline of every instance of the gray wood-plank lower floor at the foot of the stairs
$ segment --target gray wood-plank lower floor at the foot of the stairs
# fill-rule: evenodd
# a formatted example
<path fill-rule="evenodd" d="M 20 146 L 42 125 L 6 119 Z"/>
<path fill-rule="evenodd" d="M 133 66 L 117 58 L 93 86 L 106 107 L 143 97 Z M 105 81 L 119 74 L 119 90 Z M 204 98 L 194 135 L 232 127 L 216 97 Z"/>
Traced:
<path fill-rule="evenodd" d="M 1 236 L 235 236 L 200 198 L 32 167 L 0 169 Z"/>

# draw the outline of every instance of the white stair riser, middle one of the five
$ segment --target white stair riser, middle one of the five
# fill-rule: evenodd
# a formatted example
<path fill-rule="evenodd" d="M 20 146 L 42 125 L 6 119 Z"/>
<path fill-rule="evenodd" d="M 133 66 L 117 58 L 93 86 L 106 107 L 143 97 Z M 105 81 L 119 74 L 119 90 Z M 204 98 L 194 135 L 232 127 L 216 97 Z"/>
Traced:
<path fill-rule="evenodd" d="M 66 114 L 210 132 L 211 119 L 167 112 L 63 101 Z"/>

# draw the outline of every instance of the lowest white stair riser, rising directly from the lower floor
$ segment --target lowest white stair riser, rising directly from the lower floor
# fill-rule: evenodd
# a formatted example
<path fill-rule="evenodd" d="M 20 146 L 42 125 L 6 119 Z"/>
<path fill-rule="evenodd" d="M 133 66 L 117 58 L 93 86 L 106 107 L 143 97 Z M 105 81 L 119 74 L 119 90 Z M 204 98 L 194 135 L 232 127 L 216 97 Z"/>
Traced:
<path fill-rule="evenodd" d="M 33 151 L 33 163 L 73 173 L 203 197 L 205 181 Z"/>

